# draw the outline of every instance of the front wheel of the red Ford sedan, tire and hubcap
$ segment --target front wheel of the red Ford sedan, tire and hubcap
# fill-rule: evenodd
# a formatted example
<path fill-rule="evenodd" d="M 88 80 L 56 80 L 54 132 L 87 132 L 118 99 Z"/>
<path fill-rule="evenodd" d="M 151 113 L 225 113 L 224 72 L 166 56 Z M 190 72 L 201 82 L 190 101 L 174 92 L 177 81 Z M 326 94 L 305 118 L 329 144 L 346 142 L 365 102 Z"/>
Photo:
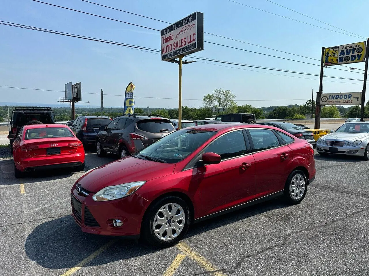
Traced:
<path fill-rule="evenodd" d="M 173 208 L 176 208 L 176 213 L 171 213 Z M 173 225 L 176 227 L 172 227 L 172 223 L 168 223 L 168 221 L 172 219 L 173 222 L 175 216 L 177 218 Z M 162 222 L 160 222 L 161 219 Z M 141 234 L 149 244 L 155 247 L 170 247 L 179 243 L 186 234 L 190 220 L 189 207 L 182 198 L 174 196 L 165 197 L 150 206 L 147 210 L 142 219 Z M 159 231 L 162 227 L 163 230 Z M 158 231 L 155 232 L 154 229 Z"/>

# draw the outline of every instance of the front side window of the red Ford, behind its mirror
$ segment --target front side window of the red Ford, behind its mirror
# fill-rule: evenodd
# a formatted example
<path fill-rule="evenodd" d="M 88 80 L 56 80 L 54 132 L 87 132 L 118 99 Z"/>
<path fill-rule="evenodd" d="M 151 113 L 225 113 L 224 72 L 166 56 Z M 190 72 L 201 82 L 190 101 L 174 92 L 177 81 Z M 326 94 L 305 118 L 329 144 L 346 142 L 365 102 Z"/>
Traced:
<path fill-rule="evenodd" d="M 206 152 L 215 152 L 222 160 L 246 154 L 242 130 L 232 131 L 219 137 L 204 150 L 204 153 Z"/>

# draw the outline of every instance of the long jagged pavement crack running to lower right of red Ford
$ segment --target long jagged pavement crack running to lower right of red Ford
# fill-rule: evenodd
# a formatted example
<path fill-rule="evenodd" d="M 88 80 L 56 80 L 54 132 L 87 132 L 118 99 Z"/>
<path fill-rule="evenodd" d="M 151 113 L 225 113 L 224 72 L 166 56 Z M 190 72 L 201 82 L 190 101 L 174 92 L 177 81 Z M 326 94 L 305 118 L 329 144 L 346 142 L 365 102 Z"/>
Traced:
<path fill-rule="evenodd" d="M 336 222 L 339 222 L 340 220 L 344 220 L 344 219 L 346 219 L 348 217 L 357 215 L 359 213 L 362 213 L 362 212 L 365 212 L 365 211 L 368 211 L 368 210 L 369 210 L 369 207 L 368 208 L 365 208 L 365 209 L 362 209 L 362 210 L 359 210 L 359 211 L 356 211 L 356 212 L 353 212 L 353 213 L 349 213 L 349 214 L 347 214 L 347 215 L 345 215 L 343 217 L 340 217 L 338 219 L 332 220 L 331 222 L 327 222 L 327 223 L 316 225 L 316 226 L 310 226 L 310 227 L 307 227 L 307 228 L 302 229 L 302 230 L 293 231 L 291 233 L 286 234 L 283 237 L 282 243 L 277 243 L 277 244 L 274 244 L 274 245 L 272 245 L 270 247 L 267 247 L 267 248 L 265 248 L 265 249 L 263 249 L 261 251 L 255 252 L 253 254 L 242 256 L 241 258 L 239 258 L 238 262 L 235 264 L 235 266 L 232 269 L 220 269 L 220 270 L 206 271 L 206 272 L 194 274 L 194 276 L 197 276 L 197 275 L 206 275 L 206 274 L 211 274 L 211 273 L 215 273 L 215 272 L 233 273 L 237 269 L 241 268 L 242 263 L 244 263 L 246 261 L 246 259 L 255 257 L 255 256 L 259 255 L 259 254 L 262 254 L 262 253 L 266 252 L 266 251 L 272 250 L 275 247 L 280 247 L 280 246 L 286 245 L 287 244 L 287 239 L 291 235 L 299 234 L 301 232 L 311 232 L 311 231 L 316 230 L 316 229 L 321 229 L 321 228 L 324 228 L 324 227 L 328 227 L 328 226 L 331 226 L 332 224 L 334 224 Z"/>

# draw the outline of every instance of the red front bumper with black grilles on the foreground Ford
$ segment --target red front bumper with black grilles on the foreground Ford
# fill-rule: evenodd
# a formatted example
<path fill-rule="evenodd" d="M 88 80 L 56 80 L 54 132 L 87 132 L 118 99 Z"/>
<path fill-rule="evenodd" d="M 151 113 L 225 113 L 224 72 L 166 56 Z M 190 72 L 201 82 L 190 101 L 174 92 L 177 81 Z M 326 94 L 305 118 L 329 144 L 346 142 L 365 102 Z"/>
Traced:
<path fill-rule="evenodd" d="M 142 217 L 150 204 L 146 199 L 133 193 L 113 201 L 96 202 L 92 199 L 93 192 L 87 191 L 87 194 L 87 196 L 81 192 L 77 194 L 76 185 L 73 185 L 70 193 L 71 215 L 82 232 L 131 238 L 139 236 Z M 73 201 L 77 201 L 74 206 Z M 114 227 L 113 219 L 121 220 L 123 225 Z"/>

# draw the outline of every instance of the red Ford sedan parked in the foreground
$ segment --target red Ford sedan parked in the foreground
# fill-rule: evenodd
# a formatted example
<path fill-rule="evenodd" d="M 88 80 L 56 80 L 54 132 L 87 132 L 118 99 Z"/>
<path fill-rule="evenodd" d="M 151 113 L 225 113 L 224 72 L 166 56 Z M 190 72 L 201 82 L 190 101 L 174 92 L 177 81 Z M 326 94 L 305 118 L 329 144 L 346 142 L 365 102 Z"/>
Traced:
<path fill-rule="evenodd" d="M 313 146 L 286 131 L 198 125 L 87 171 L 72 187 L 72 216 L 83 232 L 167 247 L 193 222 L 279 195 L 298 204 L 314 178 Z"/>

